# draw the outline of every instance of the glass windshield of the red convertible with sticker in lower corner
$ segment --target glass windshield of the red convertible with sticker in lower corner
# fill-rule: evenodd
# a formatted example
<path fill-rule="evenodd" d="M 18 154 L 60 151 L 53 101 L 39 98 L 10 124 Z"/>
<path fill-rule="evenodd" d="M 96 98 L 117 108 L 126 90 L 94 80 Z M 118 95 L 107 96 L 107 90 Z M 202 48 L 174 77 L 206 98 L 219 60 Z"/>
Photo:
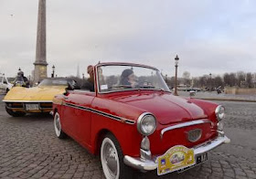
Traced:
<path fill-rule="evenodd" d="M 158 70 L 128 65 L 110 65 L 97 68 L 100 92 L 131 89 L 170 91 Z"/>

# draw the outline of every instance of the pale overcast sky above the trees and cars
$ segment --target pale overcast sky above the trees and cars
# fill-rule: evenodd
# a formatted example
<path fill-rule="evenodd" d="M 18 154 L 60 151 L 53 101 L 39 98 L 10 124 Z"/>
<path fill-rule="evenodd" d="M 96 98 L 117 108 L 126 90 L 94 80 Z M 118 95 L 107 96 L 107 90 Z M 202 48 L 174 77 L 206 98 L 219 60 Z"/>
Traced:
<path fill-rule="evenodd" d="M 31 74 L 37 0 L 0 0 L 0 72 Z M 254 0 L 47 1 L 48 76 L 80 74 L 99 61 L 136 62 L 168 76 L 256 72 Z"/>

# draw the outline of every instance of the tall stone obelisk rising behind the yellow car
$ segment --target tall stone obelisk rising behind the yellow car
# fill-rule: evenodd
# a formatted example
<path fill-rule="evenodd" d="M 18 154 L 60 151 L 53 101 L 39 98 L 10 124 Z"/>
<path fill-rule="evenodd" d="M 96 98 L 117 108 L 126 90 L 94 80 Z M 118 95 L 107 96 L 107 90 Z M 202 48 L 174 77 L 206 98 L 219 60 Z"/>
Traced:
<path fill-rule="evenodd" d="M 37 17 L 37 49 L 34 63 L 34 84 L 48 77 L 46 0 L 39 0 Z"/>

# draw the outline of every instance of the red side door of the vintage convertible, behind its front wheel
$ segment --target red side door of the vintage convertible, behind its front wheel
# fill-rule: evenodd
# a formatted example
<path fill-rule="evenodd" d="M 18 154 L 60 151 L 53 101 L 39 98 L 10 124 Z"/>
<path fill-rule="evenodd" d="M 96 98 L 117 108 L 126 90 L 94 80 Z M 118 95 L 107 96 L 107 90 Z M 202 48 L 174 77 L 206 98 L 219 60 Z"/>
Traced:
<path fill-rule="evenodd" d="M 95 92 L 74 90 L 65 96 L 65 128 L 76 141 L 90 147 L 91 143 L 91 102 Z"/>

